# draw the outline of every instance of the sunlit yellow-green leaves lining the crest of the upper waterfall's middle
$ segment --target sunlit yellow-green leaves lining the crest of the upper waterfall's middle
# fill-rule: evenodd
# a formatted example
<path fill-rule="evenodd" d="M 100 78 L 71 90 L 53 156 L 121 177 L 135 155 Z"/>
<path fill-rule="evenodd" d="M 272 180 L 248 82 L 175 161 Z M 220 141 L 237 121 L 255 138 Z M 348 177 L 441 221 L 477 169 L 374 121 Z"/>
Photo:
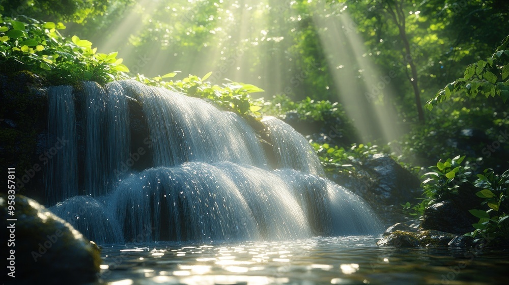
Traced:
<path fill-rule="evenodd" d="M 223 83 L 222 86 L 213 85 L 205 81 L 212 72 L 207 73 L 203 78 L 189 75 L 182 80 L 164 80 L 165 78 L 174 77 L 179 72 L 175 71 L 154 78 L 137 74 L 135 79 L 150 86 L 162 87 L 188 96 L 205 99 L 222 109 L 236 112 L 239 115 L 261 116 L 259 110 L 262 107 L 254 105 L 249 94 L 263 92 L 263 89 L 252 84 L 233 81 Z"/>

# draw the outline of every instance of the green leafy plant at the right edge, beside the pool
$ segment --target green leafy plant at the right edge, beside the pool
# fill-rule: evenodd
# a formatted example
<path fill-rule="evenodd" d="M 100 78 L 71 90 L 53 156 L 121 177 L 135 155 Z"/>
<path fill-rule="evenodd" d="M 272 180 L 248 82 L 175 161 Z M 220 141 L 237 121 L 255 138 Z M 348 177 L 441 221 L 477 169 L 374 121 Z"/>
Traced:
<path fill-rule="evenodd" d="M 509 242 L 509 170 L 502 175 L 495 175 L 493 169 L 485 169 L 483 174 L 477 175 L 475 187 L 482 189 L 476 193 L 483 198 L 481 206 L 488 206 L 488 210 L 470 210 L 479 218 L 473 226 L 475 230 L 466 234 L 484 243 Z"/>

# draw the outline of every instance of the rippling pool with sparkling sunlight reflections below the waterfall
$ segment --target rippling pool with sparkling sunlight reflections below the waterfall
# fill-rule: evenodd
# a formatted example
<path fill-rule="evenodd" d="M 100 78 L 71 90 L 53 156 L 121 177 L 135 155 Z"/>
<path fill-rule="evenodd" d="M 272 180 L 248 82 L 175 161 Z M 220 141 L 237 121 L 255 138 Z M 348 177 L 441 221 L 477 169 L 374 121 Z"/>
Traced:
<path fill-rule="evenodd" d="M 379 247 L 346 236 L 104 246 L 101 284 L 506 284 L 505 249 Z"/>

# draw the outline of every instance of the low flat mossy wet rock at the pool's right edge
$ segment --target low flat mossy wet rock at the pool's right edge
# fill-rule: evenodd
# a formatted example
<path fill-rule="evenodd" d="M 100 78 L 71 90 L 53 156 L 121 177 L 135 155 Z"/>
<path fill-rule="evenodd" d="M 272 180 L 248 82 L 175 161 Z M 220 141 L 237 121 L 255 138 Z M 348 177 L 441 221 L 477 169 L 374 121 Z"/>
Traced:
<path fill-rule="evenodd" d="M 394 231 L 389 236 L 379 240 L 380 246 L 447 246 L 457 236 L 440 231 L 404 232 Z"/>

